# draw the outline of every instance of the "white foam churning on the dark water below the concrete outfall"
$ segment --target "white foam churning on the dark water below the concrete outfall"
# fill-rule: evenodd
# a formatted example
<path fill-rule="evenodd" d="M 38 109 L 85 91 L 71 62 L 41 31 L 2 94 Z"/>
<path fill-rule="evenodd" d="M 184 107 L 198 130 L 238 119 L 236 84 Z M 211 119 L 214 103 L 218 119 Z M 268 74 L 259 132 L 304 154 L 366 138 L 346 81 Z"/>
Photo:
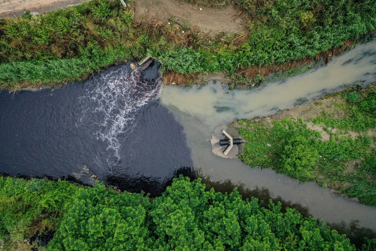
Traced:
<path fill-rule="evenodd" d="M 124 65 L 114 70 L 105 71 L 94 77 L 93 84 L 98 85 L 94 90 L 88 90 L 80 97 L 84 107 L 80 119 L 91 119 L 91 116 L 100 116 L 99 130 L 95 132 L 98 140 L 108 143 L 108 150 L 113 150 L 117 160 L 120 160 L 120 135 L 129 133 L 135 120 L 136 112 L 147 103 L 158 98 L 161 92 L 162 79 L 155 82 L 143 81 L 141 72 L 152 60 L 146 62 L 136 70 L 130 70 Z M 89 105 L 85 103 L 91 103 Z"/>

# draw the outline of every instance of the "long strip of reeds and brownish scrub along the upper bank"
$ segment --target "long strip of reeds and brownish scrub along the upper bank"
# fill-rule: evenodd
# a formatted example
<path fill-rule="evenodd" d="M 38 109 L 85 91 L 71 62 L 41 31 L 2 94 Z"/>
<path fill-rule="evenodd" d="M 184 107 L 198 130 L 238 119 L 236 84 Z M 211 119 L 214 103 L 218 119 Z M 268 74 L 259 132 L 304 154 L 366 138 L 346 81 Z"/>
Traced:
<path fill-rule="evenodd" d="M 244 67 L 315 58 L 376 27 L 375 0 L 239 0 L 237 5 L 249 17 L 247 34 L 218 35 L 212 46 L 207 35 L 199 37 L 195 29 L 182 33 L 173 22 L 134 23 L 132 9 L 119 1 L 93 0 L 46 15 L 2 19 L 0 86 L 53 86 L 147 53 L 176 78 L 218 71 L 234 75 L 241 69 L 246 76 Z"/>

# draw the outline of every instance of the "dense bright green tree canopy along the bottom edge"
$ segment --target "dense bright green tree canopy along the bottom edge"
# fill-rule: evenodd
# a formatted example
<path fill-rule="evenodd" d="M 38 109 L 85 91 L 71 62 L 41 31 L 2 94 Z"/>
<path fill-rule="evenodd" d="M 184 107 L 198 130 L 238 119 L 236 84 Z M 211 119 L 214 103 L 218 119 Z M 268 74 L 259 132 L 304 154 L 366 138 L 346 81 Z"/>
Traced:
<path fill-rule="evenodd" d="M 174 179 L 161 197 L 81 189 L 47 250 L 343 250 L 349 239 L 291 208 Z"/>

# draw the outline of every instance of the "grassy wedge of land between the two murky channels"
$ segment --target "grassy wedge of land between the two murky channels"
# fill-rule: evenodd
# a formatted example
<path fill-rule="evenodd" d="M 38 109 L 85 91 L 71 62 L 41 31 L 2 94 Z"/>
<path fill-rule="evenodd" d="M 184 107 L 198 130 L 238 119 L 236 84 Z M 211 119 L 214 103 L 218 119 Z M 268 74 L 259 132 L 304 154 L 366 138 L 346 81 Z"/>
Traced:
<path fill-rule="evenodd" d="M 240 120 L 240 159 L 376 206 L 375 104 L 374 87 L 350 89 L 271 120 Z"/>

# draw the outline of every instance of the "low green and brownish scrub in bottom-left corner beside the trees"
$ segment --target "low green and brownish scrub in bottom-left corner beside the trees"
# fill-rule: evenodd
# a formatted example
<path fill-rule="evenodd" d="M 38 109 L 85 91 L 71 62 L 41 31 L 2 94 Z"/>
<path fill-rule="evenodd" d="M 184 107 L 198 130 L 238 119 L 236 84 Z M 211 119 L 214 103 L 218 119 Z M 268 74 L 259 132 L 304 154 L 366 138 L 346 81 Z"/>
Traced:
<path fill-rule="evenodd" d="M 78 189 L 67 181 L 0 176 L 0 246 L 57 230 Z"/>

